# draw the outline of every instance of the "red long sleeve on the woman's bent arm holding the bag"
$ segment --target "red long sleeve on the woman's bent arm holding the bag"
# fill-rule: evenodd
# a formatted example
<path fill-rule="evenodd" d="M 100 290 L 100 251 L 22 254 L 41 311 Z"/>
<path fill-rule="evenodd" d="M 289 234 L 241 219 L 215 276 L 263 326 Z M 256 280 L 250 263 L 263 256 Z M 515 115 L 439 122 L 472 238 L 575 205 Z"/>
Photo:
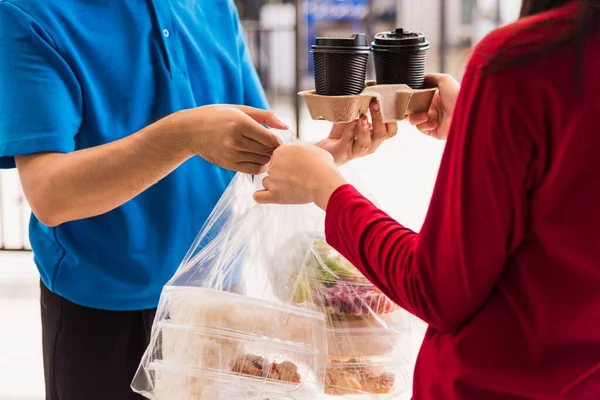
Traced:
<path fill-rule="evenodd" d="M 535 146 L 519 103 L 516 80 L 469 66 L 419 234 L 351 186 L 330 199 L 327 241 L 439 331 L 456 329 L 483 305 L 524 236 Z"/>

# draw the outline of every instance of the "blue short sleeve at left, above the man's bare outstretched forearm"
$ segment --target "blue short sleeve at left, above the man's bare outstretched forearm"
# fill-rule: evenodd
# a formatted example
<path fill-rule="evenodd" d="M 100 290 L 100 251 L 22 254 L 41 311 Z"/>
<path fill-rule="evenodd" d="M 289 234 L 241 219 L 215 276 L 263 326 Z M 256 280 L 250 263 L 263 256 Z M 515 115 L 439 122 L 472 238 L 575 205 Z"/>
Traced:
<path fill-rule="evenodd" d="M 52 38 L 18 6 L 0 1 L 0 167 L 14 156 L 70 152 L 81 89 Z"/>

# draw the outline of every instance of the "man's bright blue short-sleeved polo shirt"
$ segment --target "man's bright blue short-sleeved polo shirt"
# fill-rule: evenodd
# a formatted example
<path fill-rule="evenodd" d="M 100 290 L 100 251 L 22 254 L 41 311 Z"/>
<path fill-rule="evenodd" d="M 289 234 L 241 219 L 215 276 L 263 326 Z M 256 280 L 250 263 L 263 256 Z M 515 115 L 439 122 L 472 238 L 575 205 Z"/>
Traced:
<path fill-rule="evenodd" d="M 2 168 L 213 103 L 267 106 L 233 0 L 0 0 Z M 232 177 L 195 157 L 107 214 L 56 228 L 33 216 L 43 282 L 88 307 L 156 307 Z"/>

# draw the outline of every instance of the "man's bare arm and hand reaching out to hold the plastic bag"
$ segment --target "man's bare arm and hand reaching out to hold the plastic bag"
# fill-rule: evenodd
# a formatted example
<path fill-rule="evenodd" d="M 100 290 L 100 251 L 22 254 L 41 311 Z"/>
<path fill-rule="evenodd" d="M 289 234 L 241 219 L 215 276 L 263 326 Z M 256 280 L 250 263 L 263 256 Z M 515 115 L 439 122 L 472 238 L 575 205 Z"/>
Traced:
<path fill-rule="evenodd" d="M 226 169 L 259 174 L 279 145 L 263 124 L 285 128 L 268 111 L 205 106 L 105 145 L 15 160 L 33 213 L 56 226 L 121 206 L 196 154 Z"/>

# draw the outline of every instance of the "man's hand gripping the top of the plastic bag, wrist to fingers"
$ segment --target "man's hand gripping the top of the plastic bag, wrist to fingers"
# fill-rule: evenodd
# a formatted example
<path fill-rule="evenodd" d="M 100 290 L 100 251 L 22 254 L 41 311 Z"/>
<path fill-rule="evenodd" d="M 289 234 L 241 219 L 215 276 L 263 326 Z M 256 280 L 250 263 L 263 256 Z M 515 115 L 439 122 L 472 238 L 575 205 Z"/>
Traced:
<path fill-rule="evenodd" d="M 255 175 L 266 171 L 279 147 L 277 137 L 263 125 L 288 129 L 272 112 L 245 106 L 210 105 L 168 118 L 186 132 L 193 154 L 219 167 Z"/>

